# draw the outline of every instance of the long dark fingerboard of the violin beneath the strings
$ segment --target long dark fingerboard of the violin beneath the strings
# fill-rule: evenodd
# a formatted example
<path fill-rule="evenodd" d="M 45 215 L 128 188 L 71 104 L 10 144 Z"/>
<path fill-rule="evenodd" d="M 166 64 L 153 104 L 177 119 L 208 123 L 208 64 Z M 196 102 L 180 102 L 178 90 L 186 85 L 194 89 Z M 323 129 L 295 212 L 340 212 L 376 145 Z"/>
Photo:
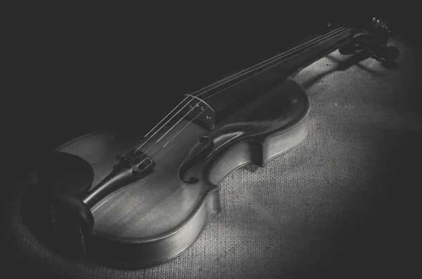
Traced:
<path fill-rule="evenodd" d="M 280 81 L 286 80 L 291 74 L 321 59 L 351 39 L 351 32 L 344 28 L 338 29 L 337 32 L 330 32 L 277 55 L 267 60 L 268 62 L 257 64 L 248 71 L 243 71 L 245 73 L 231 76 L 229 81 L 220 81 L 222 84 L 217 83 L 214 88 L 199 92 L 199 95 L 215 109 L 216 122 L 219 122 L 230 114 L 233 107 L 241 106 L 268 92 Z"/>

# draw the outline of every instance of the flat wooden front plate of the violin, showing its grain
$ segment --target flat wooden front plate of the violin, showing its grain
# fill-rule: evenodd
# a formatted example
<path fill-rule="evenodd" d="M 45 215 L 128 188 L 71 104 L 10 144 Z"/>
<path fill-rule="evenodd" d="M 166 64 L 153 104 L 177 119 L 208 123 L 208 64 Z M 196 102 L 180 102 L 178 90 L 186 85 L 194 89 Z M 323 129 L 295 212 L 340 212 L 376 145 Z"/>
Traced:
<path fill-rule="evenodd" d="M 122 239 L 148 238 L 177 228 L 195 212 L 200 198 L 214 187 L 208 183 L 184 184 L 178 176 L 181 164 L 198 143 L 198 138 L 207 135 L 215 140 L 218 149 L 229 142 L 245 138 L 257 140 L 257 136 L 267 135 L 265 138 L 271 132 L 287 128 L 309 109 L 307 96 L 301 88 L 293 86 L 293 81 L 290 83 L 279 83 L 264 93 L 259 102 L 234 112 L 213 131 L 186 119 L 167 130 L 174 125 L 169 123 L 142 148 L 148 150 L 148 156 L 155 162 L 153 172 L 110 193 L 91 208 L 94 233 Z M 180 131 L 183 135 L 179 135 Z M 163 135 L 165 137 L 157 142 Z M 115 140 L 110 132 L 99 132 L 65 144 L 61 151 L 76 154 L 91 163 L 95 170 L 93 185 L 96 185 L 116 164 L 117 155 L 139 146 L 142 141 L 142 138 L 134 138 L 122 142 Z M 245 162 L 237 164 L 241 163 Z M 231 171 L 226 170 L 227 173 Z"/>

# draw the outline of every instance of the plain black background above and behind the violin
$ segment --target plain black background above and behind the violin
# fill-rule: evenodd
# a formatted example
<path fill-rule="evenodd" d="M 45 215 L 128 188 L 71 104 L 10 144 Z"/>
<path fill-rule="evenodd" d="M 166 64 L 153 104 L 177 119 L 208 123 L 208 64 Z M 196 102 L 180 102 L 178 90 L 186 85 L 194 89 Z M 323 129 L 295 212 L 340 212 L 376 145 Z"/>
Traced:
<path fill-rule="evenodd" d="M 18 177 L 42 151 L 99 128 L 148 130 L 185 93 L 281 53 L 329 20 L 378 16 L 394 32 L 420 41 L 411 7 L 358 6 L 355 13 L 349 6 L 305 13 L 162 4 L 131 15 L 21 7 L 6 25 L 12 60 L 11 88 L 2 101 L 7 174 Z"/>

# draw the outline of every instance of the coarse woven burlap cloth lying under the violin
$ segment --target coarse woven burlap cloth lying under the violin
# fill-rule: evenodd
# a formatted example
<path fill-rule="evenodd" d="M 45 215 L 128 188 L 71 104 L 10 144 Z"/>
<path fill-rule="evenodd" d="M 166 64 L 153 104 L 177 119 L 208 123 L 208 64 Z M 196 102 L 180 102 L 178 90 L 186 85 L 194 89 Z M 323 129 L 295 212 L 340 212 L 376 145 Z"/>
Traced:
<path fill-rule="evenodd" d="M 6 211 L 13 257 L 40 278 L 407 278 L 417 262 L 422 90 L 414 48 L 392 43 L 394 67 L 335 51 L 296 76 L 312 104 L 309 136 L 265 168 L 227 177 L 222 212 L 181 257 L 138 271 L 65 261 L 23 222 L 33 171 L 13 185 Z"/>

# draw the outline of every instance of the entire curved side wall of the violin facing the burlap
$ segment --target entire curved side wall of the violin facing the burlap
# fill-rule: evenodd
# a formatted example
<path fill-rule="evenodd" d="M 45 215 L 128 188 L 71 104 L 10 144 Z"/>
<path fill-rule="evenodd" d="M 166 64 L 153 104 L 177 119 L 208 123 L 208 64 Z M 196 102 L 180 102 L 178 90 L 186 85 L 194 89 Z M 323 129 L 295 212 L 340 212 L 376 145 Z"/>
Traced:
<path fill-rule="evenodd" d="M 119 268 L 146 268 L 162 264 L 186 252 L 203 232 L 209 219 L 221 212 L 219 203 L 219 186 L 231 172 L 255 164 L 263 166 L 268 161 L 285 154 L 303 140 L 309 132 L 309 116 L 293 125 L 288 130 L 268 135 L 263 139 L 245 140 L 221 151 L 219 156 L 212 158 L 205 166 L 207 175 L 193 185 L 207 187 L 209 190 L 198 203 L 187 222 L 175 228 L 172 232 L 154 236 L 151 240 L 134 238 L 110 239 L 91 232 L 87 241 L 88 256 L 94 261 Z M 202 170 L 204 171 L 204 170 Z M 205 182 L 206 181 L 206 182 Z"/>

